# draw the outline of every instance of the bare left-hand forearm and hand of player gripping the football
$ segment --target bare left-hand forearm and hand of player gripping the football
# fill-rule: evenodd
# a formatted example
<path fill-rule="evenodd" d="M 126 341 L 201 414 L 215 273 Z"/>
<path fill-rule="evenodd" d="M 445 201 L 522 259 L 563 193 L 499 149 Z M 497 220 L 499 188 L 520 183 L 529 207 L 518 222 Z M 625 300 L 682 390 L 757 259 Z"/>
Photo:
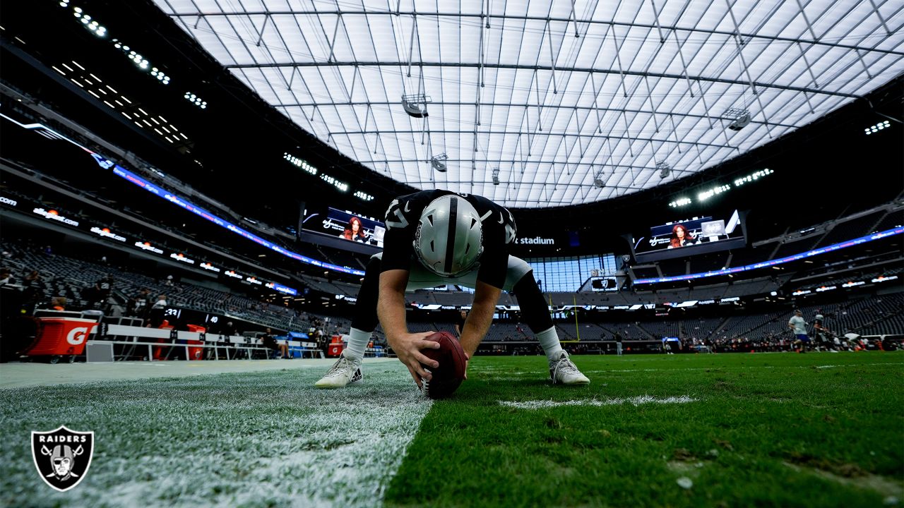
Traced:
<path fill-rule="evenodd" d="M 405 287 L 408 285 L 408 270 L 391 269 L 380 274 L 380 297 L 377 299 L 377 315 L 386 334 L 386 341 L 399 361 L 408 367 L 414 382 L 420 386 L 421 379 L 430 379 L 421 363 L 438 367 L 439 363 L 420 353 L 421 349 L 437 349 L 439 343 L 425 340 L 433 332 L 409 334 L 405 324 Z M 492 315 L 491 315 L 492 316 Z"/>

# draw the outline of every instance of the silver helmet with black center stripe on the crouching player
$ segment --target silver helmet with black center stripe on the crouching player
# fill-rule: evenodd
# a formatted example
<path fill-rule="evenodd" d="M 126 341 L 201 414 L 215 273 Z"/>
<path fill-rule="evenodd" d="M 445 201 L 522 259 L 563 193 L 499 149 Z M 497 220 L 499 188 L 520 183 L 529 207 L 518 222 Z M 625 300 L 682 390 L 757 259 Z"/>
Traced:
<path fill-rule="evenodd" d="M 478 266 L 483 240 L 474 206 L 457 194 L 447 194 L 430 202 L 421 213 L 414 250 L 430 272 L 457 278 Z"/>

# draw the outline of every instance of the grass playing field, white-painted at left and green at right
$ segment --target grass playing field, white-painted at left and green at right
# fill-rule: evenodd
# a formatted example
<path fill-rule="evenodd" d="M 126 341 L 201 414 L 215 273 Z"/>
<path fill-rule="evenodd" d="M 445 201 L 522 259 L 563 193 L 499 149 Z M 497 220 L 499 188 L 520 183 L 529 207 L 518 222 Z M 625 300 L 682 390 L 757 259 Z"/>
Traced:
<path fill-rule="evenodd" d="M 398 362 L 0 390 L 8 506 L 882 506 L 904 499 L 904 355 L 478 357 L 431 403 Z M 408 378 L 408 379 L 406 379 Z M 42 483 L 32 430 L 94 430 Z M 407 451 L 406 451 L 407 450 Z"/>

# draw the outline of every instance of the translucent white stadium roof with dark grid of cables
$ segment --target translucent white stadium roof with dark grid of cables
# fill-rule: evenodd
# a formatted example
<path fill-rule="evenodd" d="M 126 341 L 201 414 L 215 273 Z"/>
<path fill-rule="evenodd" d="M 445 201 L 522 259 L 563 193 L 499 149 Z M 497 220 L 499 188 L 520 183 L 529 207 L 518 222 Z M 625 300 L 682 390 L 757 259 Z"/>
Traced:
<path fill-rule="evenodd" d="M 155 3 L 344 155 L 520 208 L 700 172 L 904 71 L 898 0 Z"/>

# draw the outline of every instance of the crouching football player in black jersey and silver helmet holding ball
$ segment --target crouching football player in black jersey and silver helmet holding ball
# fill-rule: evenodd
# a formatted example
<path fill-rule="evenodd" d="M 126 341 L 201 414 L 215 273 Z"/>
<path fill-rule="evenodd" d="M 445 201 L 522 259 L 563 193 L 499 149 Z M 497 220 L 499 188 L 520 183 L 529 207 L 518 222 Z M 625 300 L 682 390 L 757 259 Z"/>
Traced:
<path fill-rule="evenodd" d="M 439 344 L 411 334 L 405 322 L 405 291 L 446 284 L 475 290 L 474 303 L 461 331 L 468 358 L 493 322 L 503 291 L 512 291 L 525 323 L 540 342 L 550 365 L 553 384 L 590 381 L 561 348 L 549 308 L 530 265 L 509 254 L 516 228 L 512 213 L 484 197 L 432 190 L 393 200 L 386 211 L 383 251 L 367 264 L 358 293 L 348 347 L 318 388 L 339 388 L 363 380 L 364 348 L 379 320 L 386 340 L 414 381 L 429 380 L 424 368 L 437 367 L 425 348 Z"/>

